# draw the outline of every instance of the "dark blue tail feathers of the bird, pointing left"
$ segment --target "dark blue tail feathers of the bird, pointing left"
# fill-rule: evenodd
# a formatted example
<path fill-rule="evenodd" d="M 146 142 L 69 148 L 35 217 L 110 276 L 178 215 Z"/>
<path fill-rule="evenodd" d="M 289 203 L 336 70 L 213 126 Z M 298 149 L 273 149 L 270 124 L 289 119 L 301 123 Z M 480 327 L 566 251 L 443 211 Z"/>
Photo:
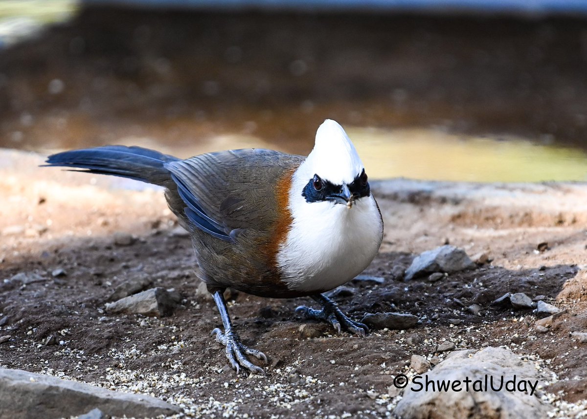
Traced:
<path fill-rule="evenodd" d="M 127 177 L 166 186 L 171 173 L 165 163 L 180 160 L 142 147 L 104 146 L 64 151 L 47 158 L 45 166 L 76 167 L 88 173 Z"/>

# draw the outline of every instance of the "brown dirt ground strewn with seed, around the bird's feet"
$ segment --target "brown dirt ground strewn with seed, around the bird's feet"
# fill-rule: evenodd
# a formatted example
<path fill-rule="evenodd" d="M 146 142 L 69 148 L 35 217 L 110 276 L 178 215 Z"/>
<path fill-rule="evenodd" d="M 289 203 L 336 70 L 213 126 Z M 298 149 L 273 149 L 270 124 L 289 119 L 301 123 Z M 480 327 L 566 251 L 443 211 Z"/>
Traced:
<path fill-rule="evenodd" d="M 190 241 L 178 234 L 161 191 L 40 162 L 2 154 L 0 334 L 11 336 L 0 344 L 2 366 L 151 393 L 195 416 L 386 417 L 393 376 L 412 354 L 430 357 L 448 340 L 541 359 L 558 376 L 548 392 L 559 403 L 587 398 L 587 347 L 570 336 L 587 329 L 585 185 L 375 183 L 385 236 L 365 273 L 384 282 L 352 281 L 352 295 L 336 300 L 359 319 L 397 311 L 420 324 L 361 339 L 311 322 L 319 336 L 303 339 L 306 321 L 294 309 L 309 299 L 239 293 L 230 307 L 237 330 L 270 358 L 267 377 L 247 378 L 235 375 L 210 337 L 220 319 L 214 303 L 197 295 Z M 117 245 L 116 234 L 125 233 L 136 241 Z M 445 242 L 492 261 L 437 282 L 401 280 L 414 255 Z M 538 251 L 542 242 L 548 249 Z M 64 272 L 53 276 L 56 269 Z M 19 273 L 31 279 L 11 279 Z M 179 290 L 183 305 L 160 319 L 104 313 L 116 286 L 139 277 Z M 506 292 L 544 295 L 568 314 L 539 334 L 531 310 L 490 305 Z M 465 309 L 474 302 L 480 316 Z M 45 345 L 52 334 L 55 344 Z"/>

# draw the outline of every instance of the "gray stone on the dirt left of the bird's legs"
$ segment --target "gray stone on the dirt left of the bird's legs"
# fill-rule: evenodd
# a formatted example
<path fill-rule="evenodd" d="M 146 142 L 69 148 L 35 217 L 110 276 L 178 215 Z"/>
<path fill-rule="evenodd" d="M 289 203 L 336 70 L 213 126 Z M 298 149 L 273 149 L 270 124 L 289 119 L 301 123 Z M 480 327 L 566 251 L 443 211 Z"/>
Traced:
<path fill-rule="evenodd" d="M 165 288 L 157 287 L 122 298 L 113 303 L 106 303 L 106 311 L 146 316 L 167 316 L 173 312 L 176 305 L 176 302 Z"/>

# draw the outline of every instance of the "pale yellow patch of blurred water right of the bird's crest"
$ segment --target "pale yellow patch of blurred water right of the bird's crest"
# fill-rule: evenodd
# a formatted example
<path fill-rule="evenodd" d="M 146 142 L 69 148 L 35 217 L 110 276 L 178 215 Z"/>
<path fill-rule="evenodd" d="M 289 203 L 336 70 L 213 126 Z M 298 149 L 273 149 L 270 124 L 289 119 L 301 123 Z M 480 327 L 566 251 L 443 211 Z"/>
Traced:
<path fill-rule="evenodd" d="M 586 181 L 587 153 L 519 137 L 433 129 L 348 129 L 370 178 L 475 182 Z"/>

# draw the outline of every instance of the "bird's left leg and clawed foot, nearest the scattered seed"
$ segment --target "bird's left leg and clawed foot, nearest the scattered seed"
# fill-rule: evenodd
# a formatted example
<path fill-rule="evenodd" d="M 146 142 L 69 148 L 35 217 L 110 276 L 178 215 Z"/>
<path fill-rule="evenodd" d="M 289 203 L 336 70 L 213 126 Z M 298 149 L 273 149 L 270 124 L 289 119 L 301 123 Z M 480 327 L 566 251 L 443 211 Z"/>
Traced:
<path fill-rule="evenodd" d="M 237 374 L 242 367 L 253 373 L 261 373 L 265 375 L 265 371 L 261 367 L 258 367 L 249 361 L 245 354 L 262 359 L 265 361 L 265 363 L 267 363 L 267 357 L 261 351 L 257 349 L 251 349 L 241 342 L 241 338 L 238 337 L 238 334 L 232 328 L 230 316 L 228 316 L 226 301 L 224 300 L 224 295 L 222 295 L 223 291 L 224 290 L 217 290 L 213 292 L 212 297 L 214 297 L 214 301 L 218 307 L 218 312 L 220 312 L 222 325 L 224 325 L 224 332 L 222 332 L 222 330 L 218 329 L 217 327 L 216 329 L 212 330 L 212 334 L 215 334 L 216 340 L 226 347 L 226 357 L 230 361 L 232 368 L 237 370 Z"/>

